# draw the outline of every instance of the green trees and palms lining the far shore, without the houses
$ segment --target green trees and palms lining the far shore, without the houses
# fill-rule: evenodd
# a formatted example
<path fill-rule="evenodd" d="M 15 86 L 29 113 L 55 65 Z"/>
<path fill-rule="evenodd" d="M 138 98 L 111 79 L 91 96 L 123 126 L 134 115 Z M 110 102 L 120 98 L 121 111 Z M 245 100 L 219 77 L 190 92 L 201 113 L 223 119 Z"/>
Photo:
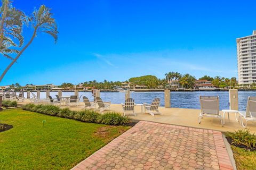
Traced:
<path fill-rule="evenodd" d="M 141 77 L 134 77 L 126 80 L 124 82 L 130 83 L 130 87 L 138 86 L 146 86 L 148 89 L 172 89 L 178 86 L 182 86 L 183 88 L 189 89 L 193 88 L 196 83 L 196 78 L 190 74 L 180 74 L 179 72 L 169 72 L 165 74 L 165 78 L 159 79 L 155 75 L 143 75 Z M 235 77 L 228 79 L 220 76 L 216 76 L 214 78 L 205 75 L 199 80 L 207 80 L 211 81 L 214 87 L 217 88 L 226 88 L 226 87 L 237 87 L 237 80 Z M 179 82 L 178 86 L 173 86 L 173 84 Z M 107 81 L 104 80 L 102 82 L 98 82 L 96 80 L 93 81 L 85 81 L 82 84 L 82 87 L 94 87 L 97 89 L 112 89 L 113 87 L 121 87 L 121 81 Z M 256 85 L 256 84 L 255 84 Z M 74 84 L 72 83 L 62 83 L 61 88 L 74 88 Z"/>

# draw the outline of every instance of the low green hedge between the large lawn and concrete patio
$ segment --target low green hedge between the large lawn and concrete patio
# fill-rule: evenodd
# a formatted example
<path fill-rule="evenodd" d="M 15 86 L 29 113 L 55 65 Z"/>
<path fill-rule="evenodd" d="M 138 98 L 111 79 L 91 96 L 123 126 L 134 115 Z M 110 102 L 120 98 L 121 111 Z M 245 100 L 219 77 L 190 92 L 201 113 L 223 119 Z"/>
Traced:
<path fill-rule="evenodd" d="M 70 111 L 69 108 L 60 108 L 53 105 L 35 105 L 27 104 L 23 106 L 23 110 L 42 113 L 51 116 L 65 117 L 81 122 L 89 123 L 101 123 L 108 125 L 124 125 L 129 123 L 129 118 L 127 116 L 122 116 L 115 112 L 106 112 L 104 114 L 99 114 L 95 111 L 85 110 L 85 111 Z"/>

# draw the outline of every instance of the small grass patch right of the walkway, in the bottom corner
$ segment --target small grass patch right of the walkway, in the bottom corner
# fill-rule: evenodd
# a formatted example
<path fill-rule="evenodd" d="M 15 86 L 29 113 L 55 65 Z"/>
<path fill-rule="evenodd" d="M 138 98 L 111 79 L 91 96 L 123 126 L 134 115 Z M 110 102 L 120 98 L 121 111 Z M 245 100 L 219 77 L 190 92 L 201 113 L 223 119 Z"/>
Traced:
<path fill-rule="evenodd" d="M 256 151 L 249 151 L 231 145 L 237 170 L 256 169 Z"/>

